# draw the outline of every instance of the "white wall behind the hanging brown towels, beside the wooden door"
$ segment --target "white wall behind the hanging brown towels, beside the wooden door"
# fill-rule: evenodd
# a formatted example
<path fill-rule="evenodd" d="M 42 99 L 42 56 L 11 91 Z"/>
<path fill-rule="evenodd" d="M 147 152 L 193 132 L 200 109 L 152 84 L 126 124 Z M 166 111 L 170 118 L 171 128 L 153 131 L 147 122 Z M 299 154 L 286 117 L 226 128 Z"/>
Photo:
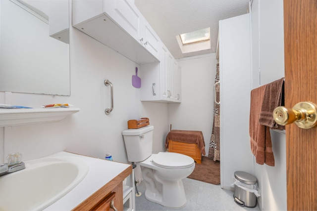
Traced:
<path fill-rule="evenodd" d="M 253 0 L 253 88 L 284 77 L 283 0 Z M 285 134 L 271 130 L 275 166 L 254 162 L 263 210 L 286 210 Z"/>

